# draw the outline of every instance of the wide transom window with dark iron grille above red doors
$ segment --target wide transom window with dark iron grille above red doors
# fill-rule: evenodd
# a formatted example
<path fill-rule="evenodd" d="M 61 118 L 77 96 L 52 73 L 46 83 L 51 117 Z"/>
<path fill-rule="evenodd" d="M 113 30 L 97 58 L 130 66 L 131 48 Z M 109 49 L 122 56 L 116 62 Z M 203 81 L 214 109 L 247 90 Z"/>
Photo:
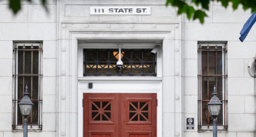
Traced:
<path fill-rule="evenodd" d="M 84 76 L 157 76 L 157 55 L 151 49 L 122 49 L 123 68 L 116 68 L 118 49 L 89 49 L 83 51 Z"/>

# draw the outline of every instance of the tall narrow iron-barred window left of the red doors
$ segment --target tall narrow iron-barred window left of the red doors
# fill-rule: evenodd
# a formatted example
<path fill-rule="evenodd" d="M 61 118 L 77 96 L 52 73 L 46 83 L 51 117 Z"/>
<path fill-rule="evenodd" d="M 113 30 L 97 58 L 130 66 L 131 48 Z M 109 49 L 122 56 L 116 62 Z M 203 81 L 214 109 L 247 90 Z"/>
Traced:
<path fill-rule="evenodd" d="M 18 103 L 22 100 L 25 85 L 28 85 L 29 98 L 34 103 L 28 117 L 29 129 L 42 129 L 42 44 L 14 43 L 15 71 L 13 74 L 15 89 L 13 94 L 12 129 L 23 127 Z"/>

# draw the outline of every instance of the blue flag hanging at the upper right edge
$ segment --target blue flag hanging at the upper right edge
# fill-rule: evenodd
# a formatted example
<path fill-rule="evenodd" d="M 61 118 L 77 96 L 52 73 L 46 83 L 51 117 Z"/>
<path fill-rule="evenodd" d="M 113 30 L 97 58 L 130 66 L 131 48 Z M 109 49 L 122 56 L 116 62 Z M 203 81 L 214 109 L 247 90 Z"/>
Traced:
<path fill-rule="evenodd" d="M 244 27 L 242 28 L 241 32 L 240 32 L 240 41 L 244 42 L 244 39 L 246 38 L 246 36 L 248 35 L 248 33 L 251 30 L 252 25 L 254 25 L 254 23 L 256 22 L 256 14 L 253 13 L 251 15 L 251 17 L 248 19 L 247 22 L 245 22 Z"/>

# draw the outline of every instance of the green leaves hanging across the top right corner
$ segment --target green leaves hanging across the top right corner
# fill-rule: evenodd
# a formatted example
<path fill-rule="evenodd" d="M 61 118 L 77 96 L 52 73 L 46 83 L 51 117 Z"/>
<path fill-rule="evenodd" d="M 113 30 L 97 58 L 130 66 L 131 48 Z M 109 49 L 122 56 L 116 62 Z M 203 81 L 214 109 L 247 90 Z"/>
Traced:
<path fill-rule="evenodd" d="M 256 12 L 256 0 L 167 0 L 167 5 L 177 7 L 177 14 L 185 14 L 187 18 L 199 19 L 200 23 L 204 23 L 204 18 L 207 17 L 206 11 L 209 11 L 210 2 L 221 2 L 225 8 L 231 4 L 232 8 L 237 9 L 238 5 L 243 5 L 244 10 L 251 8 L 251 12 Z M 194 6 L 193 6 L 194 5 Z M 196 8 L 196 9 L 195 9 Z"/>

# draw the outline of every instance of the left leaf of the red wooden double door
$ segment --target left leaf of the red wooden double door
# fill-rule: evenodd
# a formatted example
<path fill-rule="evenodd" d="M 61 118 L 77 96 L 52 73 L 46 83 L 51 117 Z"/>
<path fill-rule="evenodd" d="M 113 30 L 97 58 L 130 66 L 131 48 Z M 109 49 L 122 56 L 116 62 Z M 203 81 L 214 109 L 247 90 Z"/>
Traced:
<path fill-rule="evenodd" d="M 118 137 L 119 94 L 83 94 L 83 137 Z"/>

